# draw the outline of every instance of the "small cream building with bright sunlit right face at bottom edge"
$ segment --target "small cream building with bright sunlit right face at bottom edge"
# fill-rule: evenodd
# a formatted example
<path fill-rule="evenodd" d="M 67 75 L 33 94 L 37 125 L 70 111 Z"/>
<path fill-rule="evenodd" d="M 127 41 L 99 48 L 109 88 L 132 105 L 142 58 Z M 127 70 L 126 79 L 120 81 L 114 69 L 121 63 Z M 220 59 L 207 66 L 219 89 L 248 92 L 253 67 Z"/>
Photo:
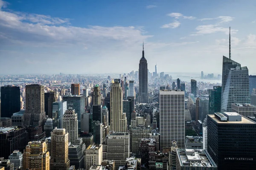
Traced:
<path fill-rule="evenodd" d="M 89 170 L 92 165 L 102 164 L 102 144 L 90 145 L 86 149 L 85 169 Z"/>

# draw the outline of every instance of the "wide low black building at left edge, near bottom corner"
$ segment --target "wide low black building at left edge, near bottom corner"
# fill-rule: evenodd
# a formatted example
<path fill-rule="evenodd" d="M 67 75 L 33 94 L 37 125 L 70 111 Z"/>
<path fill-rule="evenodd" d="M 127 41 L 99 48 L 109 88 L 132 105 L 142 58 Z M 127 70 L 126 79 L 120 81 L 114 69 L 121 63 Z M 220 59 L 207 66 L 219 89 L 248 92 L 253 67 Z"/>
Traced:
<path fill-rule="evenodd" d="M 28 140 L 23 126 L 0 128 L 0 157 L 8 159 L 14 150 L 23 150 Z"/>

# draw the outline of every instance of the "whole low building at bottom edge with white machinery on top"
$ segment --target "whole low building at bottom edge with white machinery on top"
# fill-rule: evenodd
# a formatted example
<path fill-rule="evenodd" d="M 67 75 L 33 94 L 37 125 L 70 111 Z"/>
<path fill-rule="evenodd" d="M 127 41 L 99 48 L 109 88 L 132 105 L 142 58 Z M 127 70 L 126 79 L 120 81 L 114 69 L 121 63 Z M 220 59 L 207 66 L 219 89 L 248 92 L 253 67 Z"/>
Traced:
<path fill-rule="evenodd" d="M 176 170 L 217 170 L 207 150 L 177 149 Z"/>

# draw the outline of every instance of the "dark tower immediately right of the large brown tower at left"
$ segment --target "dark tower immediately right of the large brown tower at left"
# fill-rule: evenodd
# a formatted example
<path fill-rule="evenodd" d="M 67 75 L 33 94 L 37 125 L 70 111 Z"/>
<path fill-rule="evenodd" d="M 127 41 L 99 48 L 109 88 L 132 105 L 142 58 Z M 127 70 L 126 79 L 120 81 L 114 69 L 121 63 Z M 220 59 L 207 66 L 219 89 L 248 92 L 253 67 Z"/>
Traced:
<path fill-rule="evenodd" d="M 53 102 L 56 102 L 58 99 L 54 91 L 50 91 L 44 94 L 44 111 L 45 115 L 48 115 L 49 118 L 52 118 L 52 105 Z"/>

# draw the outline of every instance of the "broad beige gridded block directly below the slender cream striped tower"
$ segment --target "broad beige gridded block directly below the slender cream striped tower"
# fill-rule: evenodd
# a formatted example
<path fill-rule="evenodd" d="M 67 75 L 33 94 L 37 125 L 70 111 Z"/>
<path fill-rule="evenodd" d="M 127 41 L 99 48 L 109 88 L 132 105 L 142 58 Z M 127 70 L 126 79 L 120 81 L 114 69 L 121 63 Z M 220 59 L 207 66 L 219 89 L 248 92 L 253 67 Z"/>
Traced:
<path fill-rule="evenodd" d="M 125 165 L 126 158 L 130 157 L 130 144 L 128 132 L 110 132 L 103 144 L 103 159 L 115 161 L 115 166 Z"/>

